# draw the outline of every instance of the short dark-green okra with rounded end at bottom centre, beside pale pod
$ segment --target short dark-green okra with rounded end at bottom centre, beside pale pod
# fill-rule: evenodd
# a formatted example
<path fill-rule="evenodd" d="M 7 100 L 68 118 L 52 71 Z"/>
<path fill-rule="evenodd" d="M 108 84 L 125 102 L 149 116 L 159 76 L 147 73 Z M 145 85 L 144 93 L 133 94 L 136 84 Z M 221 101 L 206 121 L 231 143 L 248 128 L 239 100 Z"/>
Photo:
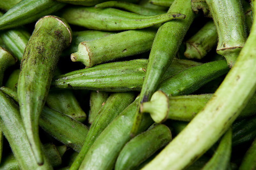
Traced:
<path fill-rule="evenodd" d="M 154 128 L 139 134 L 125 144 L 117 157 L 115 169 L 134 169 L 158 149 L 168 144 L 171 139 L 170 129 L 163 124 L 158 124 Z"/>

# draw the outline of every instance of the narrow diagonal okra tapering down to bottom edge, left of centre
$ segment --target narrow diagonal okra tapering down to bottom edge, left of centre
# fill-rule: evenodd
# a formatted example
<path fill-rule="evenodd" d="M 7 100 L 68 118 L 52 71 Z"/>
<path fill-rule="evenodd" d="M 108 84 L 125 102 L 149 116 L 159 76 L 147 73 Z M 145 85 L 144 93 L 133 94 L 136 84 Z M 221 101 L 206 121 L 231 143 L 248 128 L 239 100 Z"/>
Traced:
<path fill-rule="evenodd" d="M 100 135 L 100 133 L 110 124 L 135 98 L 133 92 L 113 93 L 108 97 L 106 103 L 101 107 L 96 115 L 85 138 L 83 148 L 70 167 L 70 170 L 78 169 L 88 150 Z"/>

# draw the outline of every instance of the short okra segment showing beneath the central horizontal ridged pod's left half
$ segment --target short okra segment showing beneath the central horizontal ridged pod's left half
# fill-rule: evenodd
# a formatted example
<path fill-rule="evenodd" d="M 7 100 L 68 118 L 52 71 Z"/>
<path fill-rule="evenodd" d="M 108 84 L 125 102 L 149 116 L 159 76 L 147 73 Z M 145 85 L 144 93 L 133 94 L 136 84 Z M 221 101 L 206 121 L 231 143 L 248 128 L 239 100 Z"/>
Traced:
<path fill-rule="evenodd" d="M 90 113 L 88 122 L 92 124 L 95 116 L 100 111 L 101 107 L 105 104 L 108 99 L 108 92 L 96 92 L 92 91 L 90 95 Z"/>

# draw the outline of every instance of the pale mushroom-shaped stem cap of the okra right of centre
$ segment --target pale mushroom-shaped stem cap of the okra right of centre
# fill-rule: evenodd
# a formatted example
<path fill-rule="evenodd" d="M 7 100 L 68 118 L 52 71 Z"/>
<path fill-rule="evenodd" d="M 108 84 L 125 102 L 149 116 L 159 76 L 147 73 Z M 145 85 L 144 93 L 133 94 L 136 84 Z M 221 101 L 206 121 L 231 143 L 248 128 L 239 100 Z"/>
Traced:
<path fill-rule="evenodd" d="M 155 92 L 151 100 L 140 105 L 140 112 L 147 112 L 156 123 L 164 122 L 169 112 L 169 99 L 162 91 Z"/>

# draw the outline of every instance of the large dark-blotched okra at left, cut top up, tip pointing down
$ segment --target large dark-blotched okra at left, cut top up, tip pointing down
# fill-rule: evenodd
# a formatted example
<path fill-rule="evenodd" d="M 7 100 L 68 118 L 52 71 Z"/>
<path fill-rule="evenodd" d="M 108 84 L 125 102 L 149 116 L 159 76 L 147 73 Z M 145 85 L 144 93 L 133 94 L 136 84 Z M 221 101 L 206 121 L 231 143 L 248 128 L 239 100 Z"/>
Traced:
<path fill-rule="evenodd" d="M 71 29 L 65 20 L 44 16 L 37 21 L 22 57 L 17 88 L 20 115 L 39 164 L 43 163 L 38 136 L 39 115 L 61 51 L 71 39 Z"/>

